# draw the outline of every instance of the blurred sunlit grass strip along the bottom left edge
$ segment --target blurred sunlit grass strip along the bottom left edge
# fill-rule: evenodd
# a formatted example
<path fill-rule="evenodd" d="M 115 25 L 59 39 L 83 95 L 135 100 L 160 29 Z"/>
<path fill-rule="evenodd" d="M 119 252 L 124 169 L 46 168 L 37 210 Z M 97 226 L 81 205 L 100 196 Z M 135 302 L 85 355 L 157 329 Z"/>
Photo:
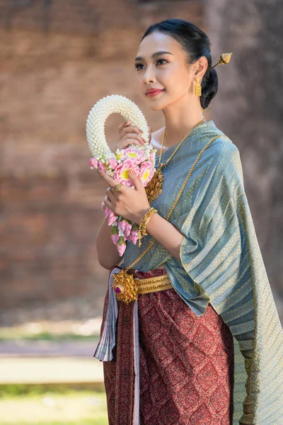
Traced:
<path fill-rule="evenodd" d="M 1 425 L 108 424 L 105 392 L 58 388 L 41 393 L 37 387 L 20 394 L 12 387 L 1 391 Z"/>

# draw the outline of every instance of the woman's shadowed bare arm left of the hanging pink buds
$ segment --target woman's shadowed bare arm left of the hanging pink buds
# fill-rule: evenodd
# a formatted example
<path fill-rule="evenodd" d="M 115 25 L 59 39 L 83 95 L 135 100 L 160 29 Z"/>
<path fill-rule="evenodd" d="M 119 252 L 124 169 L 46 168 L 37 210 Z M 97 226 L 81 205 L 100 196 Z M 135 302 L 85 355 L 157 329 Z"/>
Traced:
<path fill-rule="evenodd" d="M 122 258 L 113 244 L 110 234 L 112 226 L 108 226 L 106 219 L 103 220 L 96 237 L 96 250 L 98 253 L 98 263 L 100 266 L 110 270 L 115 264 L 119 264 Z"/>

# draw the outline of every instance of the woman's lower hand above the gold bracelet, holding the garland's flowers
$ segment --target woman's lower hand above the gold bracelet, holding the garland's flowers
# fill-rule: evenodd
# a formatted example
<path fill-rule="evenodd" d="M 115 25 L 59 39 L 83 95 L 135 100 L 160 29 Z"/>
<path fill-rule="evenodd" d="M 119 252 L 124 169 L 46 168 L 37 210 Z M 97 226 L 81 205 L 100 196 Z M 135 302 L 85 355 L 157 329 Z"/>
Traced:
<path fill-rule="evenodd" d="M 112 179 L 111 176 L 108 176 L 105 172 L 100 169 L 97 170 L 100 177 L 105 179 L 105 181 L 110 186 L 105 194 L 104 203 L 110 208 L 115 214 L 121 215 L 127 220 L 140 225 L 142 218 L 146 211 L 150 208 L 149 200 L 146 196 L 146 191 L 142 185 L 137 174 L 131 174 L 129 172 L 129 178 L 134 184 L 134 188 L 125 186 L 121 184 L 121 191 L 111 190 L 119 181 Z"/>

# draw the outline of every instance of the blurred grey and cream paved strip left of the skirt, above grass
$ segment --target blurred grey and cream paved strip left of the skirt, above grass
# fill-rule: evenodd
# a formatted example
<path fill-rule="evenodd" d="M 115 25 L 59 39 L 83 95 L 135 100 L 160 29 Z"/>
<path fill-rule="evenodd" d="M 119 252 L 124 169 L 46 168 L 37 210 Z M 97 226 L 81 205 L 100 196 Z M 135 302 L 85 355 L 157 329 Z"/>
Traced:
<path fill-rule="evenodd" d="M 93 341 L 0 341 L 0 385 L 103 384 Z"/>

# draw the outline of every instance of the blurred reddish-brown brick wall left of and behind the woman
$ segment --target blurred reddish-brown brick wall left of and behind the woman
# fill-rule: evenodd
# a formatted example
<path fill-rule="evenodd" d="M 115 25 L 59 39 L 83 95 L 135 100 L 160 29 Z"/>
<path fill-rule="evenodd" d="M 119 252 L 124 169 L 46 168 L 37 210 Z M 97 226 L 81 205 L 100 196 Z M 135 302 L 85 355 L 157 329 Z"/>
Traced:
<path fill-rule="evenodd" d="M 203 25 L 200 1 L 20 3 L 0 1 L 2 310 L 105 293 L 95 248 L 105 186 L 88 166 L 88 112 L 122 94 L 160 128 L 134 88 L 141 35 L 169 17 Z M 121 120 L 106 123 L 112 147 Z"/>

